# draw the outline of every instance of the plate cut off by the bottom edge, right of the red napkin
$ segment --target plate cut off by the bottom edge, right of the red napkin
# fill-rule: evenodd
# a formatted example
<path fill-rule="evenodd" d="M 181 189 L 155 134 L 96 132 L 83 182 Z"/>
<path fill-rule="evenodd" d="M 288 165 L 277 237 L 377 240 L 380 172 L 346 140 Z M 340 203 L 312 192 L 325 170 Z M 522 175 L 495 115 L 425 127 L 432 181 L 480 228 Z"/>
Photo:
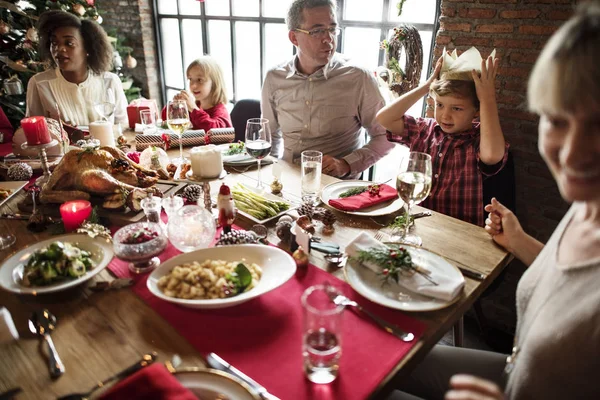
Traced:
<path fill-rule="evenodd" d="M 226 399 L 260 400 L 246 383 L 227 372 L 216 369 L 182 369 L 173 376 L 199 399 L 214 399 L 221 394 Z"/>

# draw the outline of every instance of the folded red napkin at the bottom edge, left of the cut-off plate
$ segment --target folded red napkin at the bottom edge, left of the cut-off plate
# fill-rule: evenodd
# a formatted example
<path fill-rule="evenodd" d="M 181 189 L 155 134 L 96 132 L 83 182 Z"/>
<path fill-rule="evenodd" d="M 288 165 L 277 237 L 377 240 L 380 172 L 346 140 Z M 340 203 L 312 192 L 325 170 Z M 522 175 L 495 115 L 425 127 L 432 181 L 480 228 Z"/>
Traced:
<path fill-rule="evenodd" d="M 197 400 L 162 364 L 152 364 L 113 386 L 101 400 Z"/>

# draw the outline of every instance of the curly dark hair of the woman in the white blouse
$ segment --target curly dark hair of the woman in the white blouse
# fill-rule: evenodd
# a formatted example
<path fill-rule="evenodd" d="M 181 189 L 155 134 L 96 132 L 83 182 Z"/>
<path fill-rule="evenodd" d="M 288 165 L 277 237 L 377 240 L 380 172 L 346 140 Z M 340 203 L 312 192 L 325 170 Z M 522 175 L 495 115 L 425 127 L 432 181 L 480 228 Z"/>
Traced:
<path fill-rule="evenodd" d="M 66 11 L 50 10 L 42 13 L 38 20 L 37 30 L 40 37 L 38 51 L 42 61 L 50 61 L 50 65 L 56 67 L 56 63 L 50 53 L 50 37 L 57 28 L 72 27 L 79 29 L 83 38 L 83 46 L 86 53 L 88 67 L 96 74 L 101 74 L 112 69 L 113 48 L 108 41 L 104 29 L 96 22 L 88 19 L 80 19 L 76 15 Z"/>

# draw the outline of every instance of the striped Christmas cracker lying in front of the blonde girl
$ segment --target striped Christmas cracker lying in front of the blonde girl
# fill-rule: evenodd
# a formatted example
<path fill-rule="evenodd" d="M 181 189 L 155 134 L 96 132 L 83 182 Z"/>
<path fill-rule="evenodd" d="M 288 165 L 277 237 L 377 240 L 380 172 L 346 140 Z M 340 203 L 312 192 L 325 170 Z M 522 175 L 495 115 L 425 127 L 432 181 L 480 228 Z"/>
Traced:
<path fill-rule="evenodd" d="M 165 147 L 162 140 L 163 133 L 169 135 L 171 139 L 169 147 L 166 149 L 179 147 L 179 136 L 171 133 L 171 131 L 163 130 L 154 134 L 137 134 L 135 135 L 135 149 L 142 151 L 150 146 Z M 203 146 L 205 144 L 222 144 L 231 143 L 235 138 L 233 128 L 215 128 L 207 132 L 204 129 L 186 131 L 183 133 L 181 141 L 184 147 Z"/>

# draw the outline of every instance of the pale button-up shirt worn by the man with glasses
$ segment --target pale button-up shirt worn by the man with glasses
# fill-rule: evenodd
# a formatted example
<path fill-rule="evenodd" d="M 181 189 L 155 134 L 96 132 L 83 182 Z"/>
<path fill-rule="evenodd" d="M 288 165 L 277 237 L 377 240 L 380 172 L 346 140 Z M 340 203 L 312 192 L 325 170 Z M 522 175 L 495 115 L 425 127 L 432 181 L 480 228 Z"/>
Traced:
<path fill-rule="evenodd" d="M 270 121 L 271 153 L 294 162 L 304 150 L 318 150 L 350 165 L 350 177 L 375 164 L 394 144 L 375 121 L 384 105 L 374 76 L 341 54 L 310 76 L 296 68 L 297 56 L 267 72 L 263 118 Z M 362 128 L 370 141 L 364 144 Z"/>

